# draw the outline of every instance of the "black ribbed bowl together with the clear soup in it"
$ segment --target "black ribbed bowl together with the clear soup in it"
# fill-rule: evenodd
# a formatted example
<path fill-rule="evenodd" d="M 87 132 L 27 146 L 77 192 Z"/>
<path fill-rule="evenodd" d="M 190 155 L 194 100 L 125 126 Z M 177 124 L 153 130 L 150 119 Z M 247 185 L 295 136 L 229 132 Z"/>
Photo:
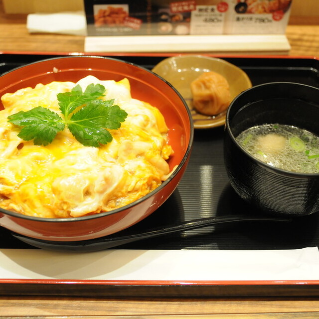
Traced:
<path fill-rule="evenodd" d="M 256 211 L 319 211 L 319 88 L 254 86 L 226 114 L 224 160 L 234 190 Z"/>

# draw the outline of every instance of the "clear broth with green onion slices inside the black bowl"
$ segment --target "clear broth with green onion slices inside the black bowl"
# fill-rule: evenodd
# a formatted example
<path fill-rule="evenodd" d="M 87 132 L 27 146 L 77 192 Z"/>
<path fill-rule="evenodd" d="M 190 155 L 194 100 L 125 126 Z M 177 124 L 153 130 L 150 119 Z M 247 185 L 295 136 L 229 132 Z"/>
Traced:
<path fill-rule="evenodd" d="M 237 138 L 251 155 L 265 163 L 294 172 L 319 173 L 319 137 L 288 125 L 264 124 Z"/>

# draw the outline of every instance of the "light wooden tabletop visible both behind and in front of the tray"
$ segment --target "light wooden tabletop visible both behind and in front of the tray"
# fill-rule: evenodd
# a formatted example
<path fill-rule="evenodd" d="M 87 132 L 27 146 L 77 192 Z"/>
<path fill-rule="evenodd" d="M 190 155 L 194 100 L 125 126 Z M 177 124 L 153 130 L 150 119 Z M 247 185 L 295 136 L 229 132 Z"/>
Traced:
<path fill-rule="evenodd" d="M 1 9 L 1 1 L 0 1 Z M 300 22 L 300 21 L 299 21 Z M 25 15 L 0 11 L 0 51 L 83 52 L 84 37 L 28 34 Z M 319 25 L 288 25 L 291 56 L 319 56 Z M 319 292 L 318 292 L 319 295 Z M 0 316 L 44 318 L 319 318 L 319 297 L 276 298 L 77 298 L 0 296 Z M 2 318 L 2 317 L 1 317 Z"/>

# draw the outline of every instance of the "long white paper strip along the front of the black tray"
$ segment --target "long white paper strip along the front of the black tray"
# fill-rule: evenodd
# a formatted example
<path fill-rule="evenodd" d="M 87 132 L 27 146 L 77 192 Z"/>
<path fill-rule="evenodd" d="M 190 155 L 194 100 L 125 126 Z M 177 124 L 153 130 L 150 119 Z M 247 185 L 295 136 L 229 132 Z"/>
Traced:
<path fill-rule="evenodd" d="M 319 280 L 317 247 L 296 250 L 0 249 L 0 279 L 117 281 Z"/>

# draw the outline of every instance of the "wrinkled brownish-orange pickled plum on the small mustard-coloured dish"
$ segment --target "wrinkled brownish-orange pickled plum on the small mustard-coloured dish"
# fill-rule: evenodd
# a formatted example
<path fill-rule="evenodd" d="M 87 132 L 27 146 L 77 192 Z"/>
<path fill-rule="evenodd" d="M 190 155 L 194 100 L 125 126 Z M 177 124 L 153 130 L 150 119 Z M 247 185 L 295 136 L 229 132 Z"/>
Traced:
<path fill-rule="evenodd" d="M 202 114 L 217 115 L 230 104 L 227 80 L 216 72 L 204 72 L 190 84 L 193 106 Z"/>

